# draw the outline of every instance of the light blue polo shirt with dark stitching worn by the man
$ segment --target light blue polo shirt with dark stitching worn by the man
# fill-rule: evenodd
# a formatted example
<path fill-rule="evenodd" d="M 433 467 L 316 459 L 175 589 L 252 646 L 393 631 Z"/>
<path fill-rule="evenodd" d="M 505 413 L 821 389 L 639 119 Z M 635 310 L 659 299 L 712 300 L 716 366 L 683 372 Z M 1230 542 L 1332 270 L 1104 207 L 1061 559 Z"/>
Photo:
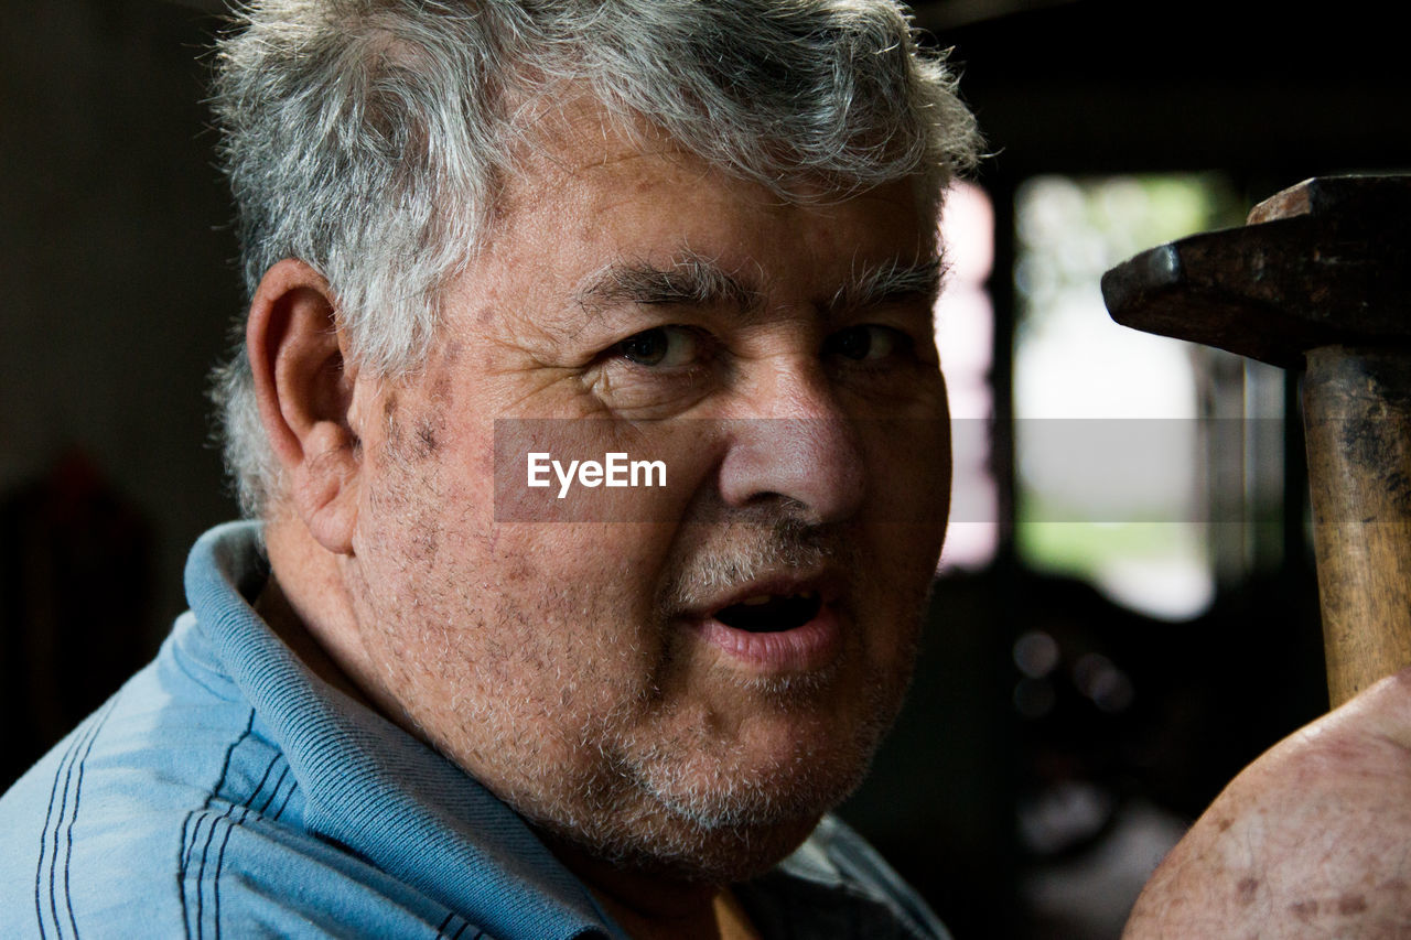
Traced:
<path fill-rule="evenodd" d="M 207 532 L 157 659 L 0 797 L 4 937 L 625 937 L 505 803 L 312 675 Z M 827 819 L 737 888 L 765 936 L 944 937 Z"/>

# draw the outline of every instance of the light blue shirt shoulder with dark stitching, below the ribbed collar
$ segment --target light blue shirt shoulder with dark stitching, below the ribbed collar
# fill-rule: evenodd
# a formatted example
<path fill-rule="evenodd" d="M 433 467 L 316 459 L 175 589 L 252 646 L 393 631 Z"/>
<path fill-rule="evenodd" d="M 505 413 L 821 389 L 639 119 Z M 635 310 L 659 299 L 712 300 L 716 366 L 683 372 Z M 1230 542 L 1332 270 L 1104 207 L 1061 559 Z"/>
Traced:
<path fill-rule="evenodd" d="M 288 755 L 179 624 L 157 662 L 0 797 L 0 936 L 463 924 L 309 833 L 305 809 Z"/>

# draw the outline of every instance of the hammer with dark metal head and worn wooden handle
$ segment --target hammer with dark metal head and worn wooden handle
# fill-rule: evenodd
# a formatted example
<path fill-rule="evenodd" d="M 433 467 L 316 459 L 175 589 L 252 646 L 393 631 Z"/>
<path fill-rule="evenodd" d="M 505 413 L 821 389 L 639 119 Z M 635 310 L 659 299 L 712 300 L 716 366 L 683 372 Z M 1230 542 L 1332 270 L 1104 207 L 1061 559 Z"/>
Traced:
<path fill-rule="evenodd" d="M 1329 699 L 1411 665 L 1411 176 L 1307 179 L 1119 264 L 1102 295 L 1126 326 L 1307 370 Z"/>

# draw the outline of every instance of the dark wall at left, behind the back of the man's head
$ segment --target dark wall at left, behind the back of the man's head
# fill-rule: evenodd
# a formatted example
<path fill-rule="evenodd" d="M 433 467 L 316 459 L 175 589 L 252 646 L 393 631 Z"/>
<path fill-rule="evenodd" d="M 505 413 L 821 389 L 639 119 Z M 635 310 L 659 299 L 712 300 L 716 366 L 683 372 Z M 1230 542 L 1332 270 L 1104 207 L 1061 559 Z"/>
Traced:
<path fill-rule="evenodd" d="M 155 0 L 0 6 L 0 694 L 28 718 L 11 748 L 151 655 L 192 539 L 236 511 L 203 398 L 240 305 L 200 103 L 210 30 Z"/>

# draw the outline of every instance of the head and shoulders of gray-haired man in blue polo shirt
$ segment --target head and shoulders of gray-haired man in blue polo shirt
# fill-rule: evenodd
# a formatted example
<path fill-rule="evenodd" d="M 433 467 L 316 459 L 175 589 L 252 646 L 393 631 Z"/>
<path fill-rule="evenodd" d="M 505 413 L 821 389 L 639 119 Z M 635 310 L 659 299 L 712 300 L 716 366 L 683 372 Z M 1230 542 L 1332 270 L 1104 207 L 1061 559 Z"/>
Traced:
<path fill-rule="evenodd" d="M 246 18 L 262 526 L 6 796 L 6 936 L 944 934 L 825 816 L 944 535 L 941 61 L 889 0 Z M 532 486 L 586 453 L 648 480 Z"/>

